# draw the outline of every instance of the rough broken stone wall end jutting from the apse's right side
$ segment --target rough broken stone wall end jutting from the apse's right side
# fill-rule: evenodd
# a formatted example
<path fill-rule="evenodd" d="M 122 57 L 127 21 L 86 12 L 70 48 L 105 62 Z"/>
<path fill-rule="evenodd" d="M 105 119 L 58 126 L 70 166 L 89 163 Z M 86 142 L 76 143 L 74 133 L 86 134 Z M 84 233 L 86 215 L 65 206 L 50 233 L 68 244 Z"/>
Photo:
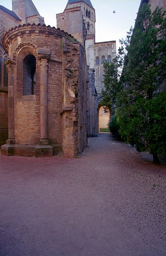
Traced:
<path fill-rule="evenodd" d="M 65 45 L 62 148 L 66 156 L 74 157 L 87 145 L 86 60 L 81 44 Z"/>

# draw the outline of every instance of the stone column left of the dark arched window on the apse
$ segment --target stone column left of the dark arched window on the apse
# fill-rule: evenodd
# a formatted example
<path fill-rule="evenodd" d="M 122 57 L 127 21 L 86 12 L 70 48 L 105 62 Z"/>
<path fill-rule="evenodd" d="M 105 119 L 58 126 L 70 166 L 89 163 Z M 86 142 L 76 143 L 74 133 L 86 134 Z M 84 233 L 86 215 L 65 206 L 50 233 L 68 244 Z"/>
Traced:
<path fill-rule="evenodd" d="M 14 66 L 15 61 L 7 59 L 6 62 L 8 73 L 8 140 L 6 144 L 15 144 L 14 139 Z"/>

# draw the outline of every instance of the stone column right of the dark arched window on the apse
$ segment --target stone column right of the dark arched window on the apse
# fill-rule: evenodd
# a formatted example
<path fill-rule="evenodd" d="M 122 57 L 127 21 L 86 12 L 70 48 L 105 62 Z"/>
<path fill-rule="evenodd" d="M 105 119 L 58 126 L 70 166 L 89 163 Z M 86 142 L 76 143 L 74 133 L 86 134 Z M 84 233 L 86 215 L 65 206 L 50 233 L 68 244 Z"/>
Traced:
<path fill-rule="evenodd" d="M 40 142 L 39 145 L 48 145 L 48 122 L 47 122 L 47 70 L 48 58 L 40 56 Z"/>

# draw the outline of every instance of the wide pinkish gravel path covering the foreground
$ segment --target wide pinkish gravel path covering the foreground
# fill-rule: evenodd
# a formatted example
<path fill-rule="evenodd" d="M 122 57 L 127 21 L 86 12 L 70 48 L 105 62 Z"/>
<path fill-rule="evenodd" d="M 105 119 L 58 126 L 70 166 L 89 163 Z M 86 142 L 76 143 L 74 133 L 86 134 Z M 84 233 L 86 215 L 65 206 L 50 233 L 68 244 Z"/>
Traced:
<path fill-rule="evenodd" d="M 81 158 L 0 158 L 0 256 L 166 256 L 166 166 L 99 134 Z"/>

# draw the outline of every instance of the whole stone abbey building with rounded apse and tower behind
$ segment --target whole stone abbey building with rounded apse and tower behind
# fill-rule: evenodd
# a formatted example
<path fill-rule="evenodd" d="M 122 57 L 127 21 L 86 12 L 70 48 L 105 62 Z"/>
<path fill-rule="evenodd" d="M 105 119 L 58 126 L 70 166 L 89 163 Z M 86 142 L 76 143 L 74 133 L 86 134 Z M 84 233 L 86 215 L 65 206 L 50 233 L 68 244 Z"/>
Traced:
<path fill-rule="evenodd" d="M 80 154 L 98 132 L 103 63 L 115 41 L 95 42 L 90 0 L 69 0 L 45 26 L 32 0 L 0 6 L 0 144 L 6 155 Z"/>

